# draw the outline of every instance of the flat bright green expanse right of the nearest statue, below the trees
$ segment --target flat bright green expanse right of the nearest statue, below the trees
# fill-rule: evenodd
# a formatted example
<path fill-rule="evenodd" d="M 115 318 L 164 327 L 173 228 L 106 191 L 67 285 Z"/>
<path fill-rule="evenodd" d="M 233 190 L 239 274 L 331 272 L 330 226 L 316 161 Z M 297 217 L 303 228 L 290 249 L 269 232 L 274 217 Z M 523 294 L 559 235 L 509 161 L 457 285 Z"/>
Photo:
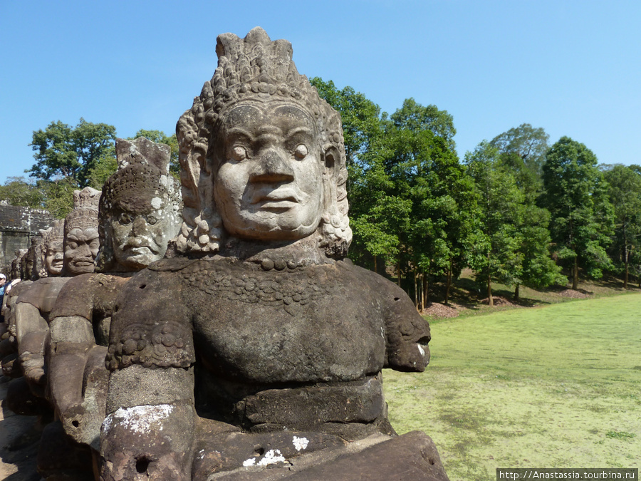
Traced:
<path fill-rule="evenodd" d="M 385 370 L 398 433 L 452 481 L 496 467 L 641 467 L 641 295 L 432 321 L 424 373 Z"/>

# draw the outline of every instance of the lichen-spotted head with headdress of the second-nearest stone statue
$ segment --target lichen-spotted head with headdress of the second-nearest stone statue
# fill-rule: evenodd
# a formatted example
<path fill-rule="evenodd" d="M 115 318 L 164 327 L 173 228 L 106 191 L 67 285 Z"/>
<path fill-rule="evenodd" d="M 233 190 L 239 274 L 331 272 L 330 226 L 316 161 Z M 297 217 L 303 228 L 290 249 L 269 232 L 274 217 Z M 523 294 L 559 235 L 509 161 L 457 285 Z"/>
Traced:
<path fill-rule="evenodd" d="M 116 140 L 118 170 L 105 182 L 96 271 L 137 271 L 162 259 L 178 234 L 182 202 L 170 175 L 170 147 L 140 137 Z"/>

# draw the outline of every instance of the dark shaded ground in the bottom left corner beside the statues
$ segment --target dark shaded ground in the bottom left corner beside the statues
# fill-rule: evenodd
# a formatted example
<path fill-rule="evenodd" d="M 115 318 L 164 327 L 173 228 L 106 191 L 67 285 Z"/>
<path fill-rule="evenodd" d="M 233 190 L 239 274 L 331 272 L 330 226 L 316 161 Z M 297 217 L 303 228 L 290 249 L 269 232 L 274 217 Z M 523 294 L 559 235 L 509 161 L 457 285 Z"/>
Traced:
<path fill-rule="evenodd" d="M 36 416 L 16 415 L 4 407 L 8 381 L 0 375 L 0 480 L 39 481 L 36 455 L 41 430 Z"/>

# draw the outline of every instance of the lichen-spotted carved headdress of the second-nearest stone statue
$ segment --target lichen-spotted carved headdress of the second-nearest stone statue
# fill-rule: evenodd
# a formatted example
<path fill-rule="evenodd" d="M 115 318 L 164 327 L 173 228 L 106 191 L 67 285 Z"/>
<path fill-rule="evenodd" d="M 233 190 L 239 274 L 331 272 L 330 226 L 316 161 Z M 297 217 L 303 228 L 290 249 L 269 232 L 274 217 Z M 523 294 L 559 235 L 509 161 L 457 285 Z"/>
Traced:
<path fill-rule="evenodd" d="M 182 217 L 182 199 L 179 183 L 170 174 L 171 148 L 139 137 L 134 140 L 116 140 L 118 170 L 103 186 L 98 213 L 100 252 L 96 258 L 97 272 L 115 269 L 113 239 L 108 223 L 115 211 L 147 214 L 169 206 L 164 213 L 171 217 L 166 228 L 169 237 L 177 234 Z"/>

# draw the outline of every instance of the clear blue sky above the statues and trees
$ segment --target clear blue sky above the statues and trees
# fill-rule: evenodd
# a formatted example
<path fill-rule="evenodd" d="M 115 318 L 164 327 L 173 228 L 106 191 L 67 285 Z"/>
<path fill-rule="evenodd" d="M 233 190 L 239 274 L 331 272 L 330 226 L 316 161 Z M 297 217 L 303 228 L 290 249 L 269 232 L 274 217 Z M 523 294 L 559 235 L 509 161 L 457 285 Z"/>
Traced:
<path fill-rule="evenodd" d="M 174 132 L 216 37 L 262 26 L 298 71 L 454 117 L 461 157 L 531 123 L 601 163 L 641 164 L 641 1 L 0 0 L 0 182 L 54 120 Z"/>

